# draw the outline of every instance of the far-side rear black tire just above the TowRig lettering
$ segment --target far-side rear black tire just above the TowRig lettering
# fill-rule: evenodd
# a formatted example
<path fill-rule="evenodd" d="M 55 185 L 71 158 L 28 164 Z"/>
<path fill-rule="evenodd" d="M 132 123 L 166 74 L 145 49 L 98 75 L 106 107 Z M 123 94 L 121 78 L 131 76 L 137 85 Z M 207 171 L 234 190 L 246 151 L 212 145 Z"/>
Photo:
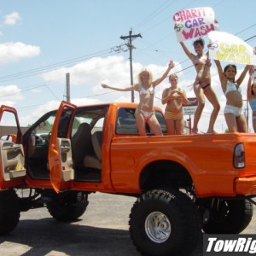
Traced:
<path fill-rule="evenodd" d="M 207 234 L 238 234 L 253 218 L 253 204 L 245 199 L 214 199 L 208 203 L 208 221 L 202 229 Z"/>

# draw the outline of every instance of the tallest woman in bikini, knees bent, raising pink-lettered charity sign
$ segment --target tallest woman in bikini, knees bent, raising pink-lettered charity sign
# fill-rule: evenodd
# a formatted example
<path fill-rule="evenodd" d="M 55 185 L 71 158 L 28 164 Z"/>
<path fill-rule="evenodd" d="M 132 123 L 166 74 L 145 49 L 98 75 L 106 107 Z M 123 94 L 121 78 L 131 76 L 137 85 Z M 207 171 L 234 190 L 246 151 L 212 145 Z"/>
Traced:
<path fill-rule="evenodd" d="M 183 42 L 180 42 L 184 52 L 188 55 L 189 59 L 195 66 L 196 78 L 194 83 L 194 92 L 197 98 L 198 106 L 195 110 L 194 125 L 192 128 L 192 134 L 198 133 L 198 123 L 201 119 L 201 113 L 205 107 L 205 96 L 208 101 L 212 104 L 213 110 L 210 117 L 207 133 L 215 133 L 214 124 L 218 116 L 220 109 L 218 98 L 211 86 L 211 61 L 207 55 L 203 54 L 205 42 L 202 38 L 195 40 L 193 43 L 196 55 L 192 54 Z"/>

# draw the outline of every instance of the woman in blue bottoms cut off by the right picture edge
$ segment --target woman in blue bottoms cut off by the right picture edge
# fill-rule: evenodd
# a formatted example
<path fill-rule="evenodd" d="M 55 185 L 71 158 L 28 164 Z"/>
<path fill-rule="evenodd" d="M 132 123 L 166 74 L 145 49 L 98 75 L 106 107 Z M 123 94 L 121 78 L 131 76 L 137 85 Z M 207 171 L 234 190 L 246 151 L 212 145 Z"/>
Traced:
<path fill-rule="evenodd" d="M 253 131 L 256 132 L 256 82 L 252 83 L 253 68 L 249 69 L 249 79 L 247 83 L 247 101 L 252 108 Z"/>

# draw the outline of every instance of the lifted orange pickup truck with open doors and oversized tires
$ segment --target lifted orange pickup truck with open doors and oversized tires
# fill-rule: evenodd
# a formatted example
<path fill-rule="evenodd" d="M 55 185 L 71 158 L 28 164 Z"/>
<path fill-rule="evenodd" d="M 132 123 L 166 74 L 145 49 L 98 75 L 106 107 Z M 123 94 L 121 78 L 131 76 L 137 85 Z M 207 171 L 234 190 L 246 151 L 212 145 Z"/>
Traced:
<path fill-rule="evenodd" d="M 256 135 L 139 137 L 135 103 L 77 107 L 61 102 L 22 136 L 0 141 L 0 234 L 20 212 L 47 207 L 61 221 L 81 217 L 94 192 L 137 197 L 131 240 L 144 255 L 188 255 L 199 231 L 240 233 L 253 216 Z M 19 193 L 29 191 L 28 195 Z"/>

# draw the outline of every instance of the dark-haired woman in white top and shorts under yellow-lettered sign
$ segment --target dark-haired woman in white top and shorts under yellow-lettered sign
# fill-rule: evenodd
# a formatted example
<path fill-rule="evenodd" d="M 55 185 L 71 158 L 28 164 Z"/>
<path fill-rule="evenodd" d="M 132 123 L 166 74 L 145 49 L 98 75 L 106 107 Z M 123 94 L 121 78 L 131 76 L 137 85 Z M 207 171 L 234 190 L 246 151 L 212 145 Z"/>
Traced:
<path fill-rule="evenodd" d="M 242 71 L 239 79 L 236 77 L 236 65 L 227 65 L 224 72 L 218 60 L 214 60 L 218 69 L 218 76 L 224 95 L 226 96 L 226 106 L 224 108 L 224 117 L 230 132 L 247 132 L 247 121 L 242 113 L 241 87 L 248 69 L 247 65 Z"/>

